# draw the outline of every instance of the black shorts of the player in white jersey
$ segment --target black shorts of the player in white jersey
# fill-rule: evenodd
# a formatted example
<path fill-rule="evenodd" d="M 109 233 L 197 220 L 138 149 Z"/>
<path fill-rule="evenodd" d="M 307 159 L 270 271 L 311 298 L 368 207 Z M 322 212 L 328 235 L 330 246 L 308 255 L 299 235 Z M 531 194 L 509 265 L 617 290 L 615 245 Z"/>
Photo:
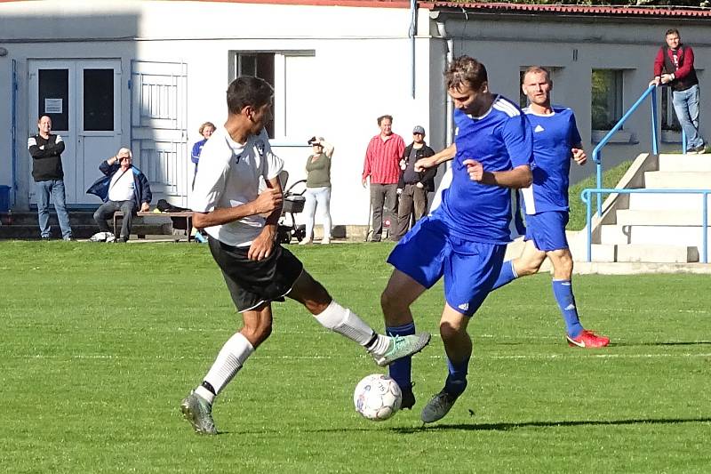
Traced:
<path fill-rule="evenodd" d="M 268 258 L 260 261 L 247 258 L 248 246 L 223 244 L 213 237 L 208 237 L 208 244 L 240 313 L 267 301 L 284 301 L 304 269 L 293 253 L 278 244 Z"/>

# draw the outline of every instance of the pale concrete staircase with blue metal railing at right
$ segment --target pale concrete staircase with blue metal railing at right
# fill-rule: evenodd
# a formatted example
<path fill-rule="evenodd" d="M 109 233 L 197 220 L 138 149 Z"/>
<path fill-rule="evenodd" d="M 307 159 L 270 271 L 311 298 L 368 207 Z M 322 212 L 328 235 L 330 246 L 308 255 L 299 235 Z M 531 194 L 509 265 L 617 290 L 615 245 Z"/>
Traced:
<path fill-rule="evenodd" d="M 711 189 L 711 155 L 643 154 L 620 189 Z M 703 195 L 611 195 L 594 218 L 593 261 L 686 263 L 703 251 Z M 711 203 L 709 203 L 711 205 Z M 711 209 L 708 212 L 711 222 Z M 711 242 L 711 232 L 708 233 Z M 587 229 L 571 242 L 576 261 L 587 259 Z"/>

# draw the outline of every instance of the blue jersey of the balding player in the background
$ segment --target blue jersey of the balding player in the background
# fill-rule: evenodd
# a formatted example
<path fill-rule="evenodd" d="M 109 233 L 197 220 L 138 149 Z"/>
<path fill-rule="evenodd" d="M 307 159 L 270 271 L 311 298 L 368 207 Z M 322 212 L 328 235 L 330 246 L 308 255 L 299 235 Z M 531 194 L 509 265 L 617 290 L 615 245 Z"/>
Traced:
<path fill-rule="evenodd" d="M 524 108 L 533 129 L 533 184 L 522 189 L 523 208 L 527 214 L 546 211 L 568 211 L 568 173 L 571 171 L 571 148 L 580 143 L 575 115 L 570 108 L 553 107 L 547 116 Z"/>

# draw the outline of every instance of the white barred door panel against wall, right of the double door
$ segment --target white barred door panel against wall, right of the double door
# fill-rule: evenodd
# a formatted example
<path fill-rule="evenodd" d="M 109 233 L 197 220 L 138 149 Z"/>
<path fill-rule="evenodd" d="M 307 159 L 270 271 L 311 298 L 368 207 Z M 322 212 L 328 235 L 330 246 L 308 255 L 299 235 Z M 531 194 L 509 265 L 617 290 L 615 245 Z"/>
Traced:
<path fill-rule="evenodd" d="M 186 65 L 134 60 L 131 63 L 133 161 L 146 175 L 153 202 L 165 198 L 188 205 Z"/>

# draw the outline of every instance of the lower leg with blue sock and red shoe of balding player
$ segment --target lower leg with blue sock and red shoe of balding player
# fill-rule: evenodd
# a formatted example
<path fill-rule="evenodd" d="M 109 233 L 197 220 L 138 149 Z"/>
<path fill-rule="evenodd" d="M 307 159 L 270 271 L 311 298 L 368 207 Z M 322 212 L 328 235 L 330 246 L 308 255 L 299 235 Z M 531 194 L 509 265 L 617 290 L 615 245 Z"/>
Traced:
<path fill-rule="evenodd" d="M 571 347 L 595 348 L 610 343 L 607 337 L 587 331 L 580 323 L 578 306 L 572 293 L 573 261 L 568 248 L 547 252 L 553 264 L 553 294 L 565 321 L 566 339 Z"/>

